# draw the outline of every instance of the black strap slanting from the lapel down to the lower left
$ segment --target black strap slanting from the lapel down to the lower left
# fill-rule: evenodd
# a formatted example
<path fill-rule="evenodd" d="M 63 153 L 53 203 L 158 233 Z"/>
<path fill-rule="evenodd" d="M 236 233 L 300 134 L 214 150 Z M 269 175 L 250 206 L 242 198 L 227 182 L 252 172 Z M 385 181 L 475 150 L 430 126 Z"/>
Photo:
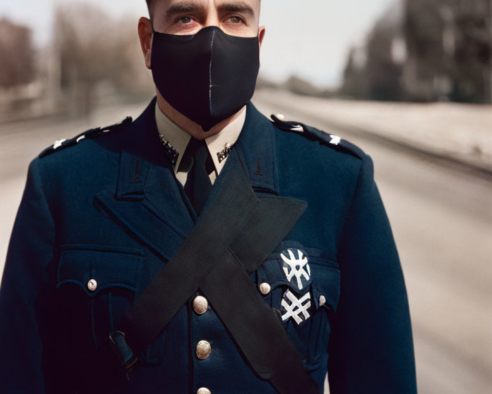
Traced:
<path fill-rule="evenodd" d="M 122 322 L 132 348 L 144 349 L 178 313 L 220 262 L 246 222 L 258 210 L 253 191 L 236 177 L 217 196 L 176 254 L 154 277 Z M 150 318 L 151 317 L 151 318 Z"/>

